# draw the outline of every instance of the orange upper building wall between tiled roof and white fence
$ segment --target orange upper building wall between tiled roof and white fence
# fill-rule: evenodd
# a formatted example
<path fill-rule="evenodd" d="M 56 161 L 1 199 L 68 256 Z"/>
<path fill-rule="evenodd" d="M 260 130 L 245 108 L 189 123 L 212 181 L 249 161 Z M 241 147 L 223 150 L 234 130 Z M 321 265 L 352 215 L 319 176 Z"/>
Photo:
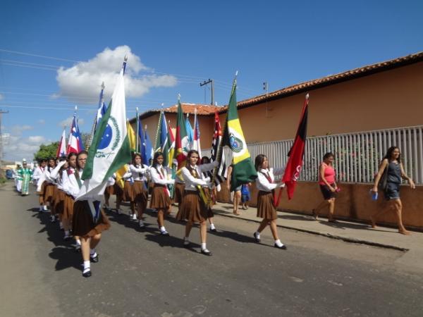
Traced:
<path fill-rule="evenodd" d="M 311 90 L 307 136 L 422 125 L 422 89 L 423 62 Z M 304 99 L 302 92 L 241 108 L 247 143 L 293 139 Z"/>

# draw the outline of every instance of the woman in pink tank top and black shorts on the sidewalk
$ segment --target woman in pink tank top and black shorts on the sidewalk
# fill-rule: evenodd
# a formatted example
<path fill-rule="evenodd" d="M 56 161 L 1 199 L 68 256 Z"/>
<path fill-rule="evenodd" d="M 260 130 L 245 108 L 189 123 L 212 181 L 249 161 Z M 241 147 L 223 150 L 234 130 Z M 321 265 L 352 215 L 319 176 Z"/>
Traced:
<path fill-rule="evenodd" d="M 336 192 L 338 192 L 338 186 L 335 181 L 335 170 L 333 169 L 333 154 L 331 152 L 324 154 L 323 162 L 319 166 L 319 187 L 321 194 L 323 195 L 323 201 L 312 210 L 312 214 L 315 220 L 319 216 L 320 209 L 329 206 L 329 223 L 336 223 L 333 219 L 333 212 L 335 211 L 335 199 Z"/>

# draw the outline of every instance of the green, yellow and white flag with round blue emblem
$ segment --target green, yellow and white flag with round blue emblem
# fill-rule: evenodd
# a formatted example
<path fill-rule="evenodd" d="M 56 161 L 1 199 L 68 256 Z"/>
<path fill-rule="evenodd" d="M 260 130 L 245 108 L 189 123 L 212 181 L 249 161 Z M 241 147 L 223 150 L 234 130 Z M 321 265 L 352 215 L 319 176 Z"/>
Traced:
<path fill-rule="evenodd" d="M 233 156 L 231 191 L 247 182 L 254 182 L 257 178 L 257 171 L 251 161 L 250 152 L 247 149 L 243 129 L 238 118 L 236 77 L 233 80 L 228 115 L 226 116 L 226 125 L 223 131 L 223 146 L 225 145 L 231 148 Z"/>

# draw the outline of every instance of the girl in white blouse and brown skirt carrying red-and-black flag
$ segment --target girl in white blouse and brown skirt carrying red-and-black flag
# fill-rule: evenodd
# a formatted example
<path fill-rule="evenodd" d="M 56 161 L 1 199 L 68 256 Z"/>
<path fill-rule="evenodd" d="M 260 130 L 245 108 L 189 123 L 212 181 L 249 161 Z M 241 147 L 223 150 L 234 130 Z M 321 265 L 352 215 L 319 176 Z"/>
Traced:
<path fill-rule="evenodd" d="M 259 154 L 255 158 L 255 168 L 257 170 L 256 187 L 259 191 L 257 197 L 257 217 L 263 218 L 259 228 L 254 232 L 256 242 L 260 242 L 260 233 L 270 225 L 271 234 L 274 237 L 274 247 L 286 249 L 286 246 L 278 238 L 278 229 L 276 227 L 276 209 L 274 206 L 274 189 L 284 187 L 284 183 L 274 184 L 274 175 L 283 173 L 283 169 L 274 173 L 273 168 L 269 168 L 269 161 L 264 154 Z"/>

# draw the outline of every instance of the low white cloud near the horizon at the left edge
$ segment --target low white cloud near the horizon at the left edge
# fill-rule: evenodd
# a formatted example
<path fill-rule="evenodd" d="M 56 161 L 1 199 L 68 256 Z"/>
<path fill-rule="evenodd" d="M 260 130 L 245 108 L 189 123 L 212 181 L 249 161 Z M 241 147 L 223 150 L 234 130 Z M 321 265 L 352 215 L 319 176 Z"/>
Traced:
<path fill-rule="evenodd" d="M 51 141 L 38 135 L 31 137 L 20 137 L 11 135 L 4 145 L 4 159 L 6 161 L 32 161 L 35 152 L 39 150 L 41 144 L 47 144 Z"/>

